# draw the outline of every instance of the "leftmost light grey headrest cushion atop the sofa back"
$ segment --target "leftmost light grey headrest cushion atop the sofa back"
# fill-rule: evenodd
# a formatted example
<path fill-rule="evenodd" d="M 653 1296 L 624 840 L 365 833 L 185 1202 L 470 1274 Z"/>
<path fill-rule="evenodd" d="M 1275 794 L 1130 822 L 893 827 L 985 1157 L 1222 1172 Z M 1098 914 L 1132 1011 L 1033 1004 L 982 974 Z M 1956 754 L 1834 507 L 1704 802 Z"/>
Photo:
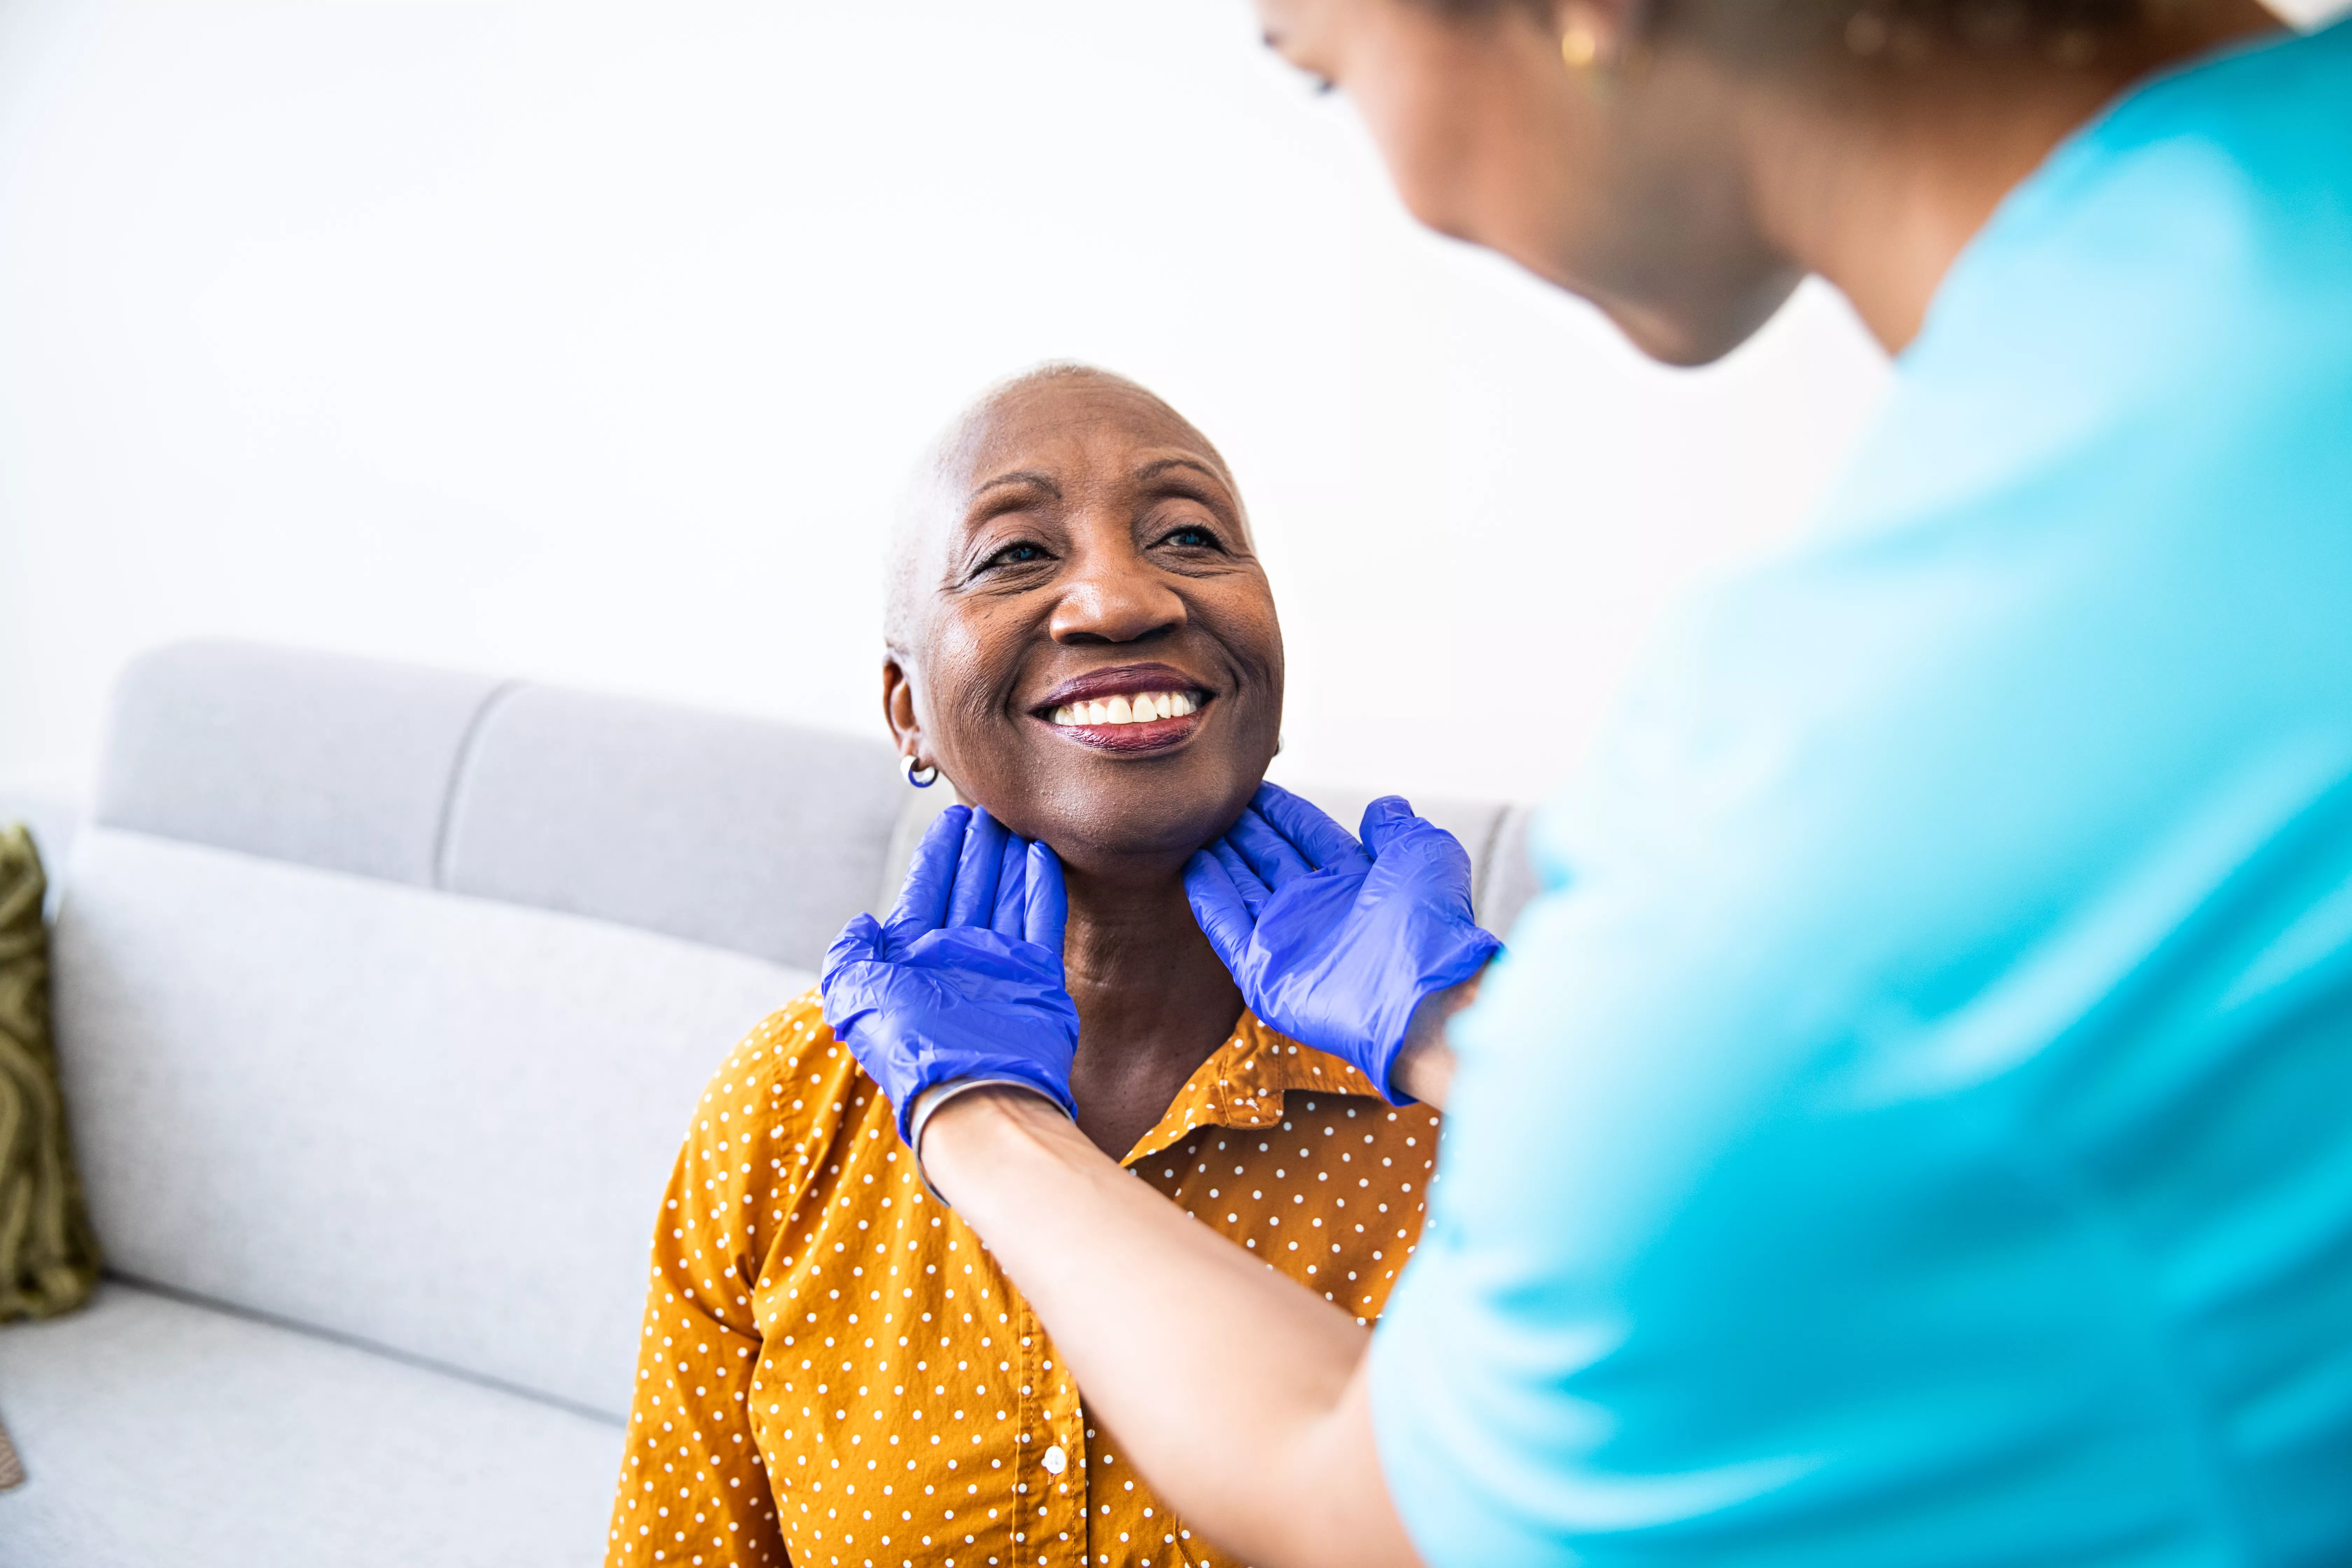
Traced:
<path fill-rule="evenodd" d="M 172 644 L 115 686 L 94 818 L 430 884 L 449 778 L 496 689 L 365 658 Z"/>

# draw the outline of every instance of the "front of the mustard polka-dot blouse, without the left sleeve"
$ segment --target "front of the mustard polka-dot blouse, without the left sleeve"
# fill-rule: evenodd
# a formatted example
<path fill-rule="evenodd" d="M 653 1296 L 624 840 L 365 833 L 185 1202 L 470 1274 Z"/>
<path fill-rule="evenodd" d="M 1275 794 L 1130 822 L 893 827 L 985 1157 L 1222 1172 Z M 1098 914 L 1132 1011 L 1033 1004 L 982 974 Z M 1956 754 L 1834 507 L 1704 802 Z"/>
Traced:
<path fill-rule="evenodd" d="M 1435 1117 L 1265 1091 L 1171 1110 L 1129 1164 L 1202 1222 L 1367 1321 L 1418 1237 Z M 757 1281 L 753 1427 L 795 1561 L 1221 1561 L 1089 1427 L 1028 1302 L 922 1192 L 870 1084 Z M 1200 1114 L 1207 1112 L 1207 1114 Z"/>

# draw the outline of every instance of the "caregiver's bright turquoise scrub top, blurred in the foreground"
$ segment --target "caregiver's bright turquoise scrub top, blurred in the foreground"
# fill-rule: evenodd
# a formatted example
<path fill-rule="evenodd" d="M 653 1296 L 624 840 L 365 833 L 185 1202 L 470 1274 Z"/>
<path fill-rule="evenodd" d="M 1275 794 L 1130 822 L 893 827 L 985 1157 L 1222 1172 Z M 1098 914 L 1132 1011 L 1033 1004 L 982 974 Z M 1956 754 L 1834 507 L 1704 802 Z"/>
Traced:
<path fill-rule="evenodd" d="M 2006 200 L 1536 858 L 1374 1349 L 1430 1563 L 2352 1563 L 2352 26 Z"/>

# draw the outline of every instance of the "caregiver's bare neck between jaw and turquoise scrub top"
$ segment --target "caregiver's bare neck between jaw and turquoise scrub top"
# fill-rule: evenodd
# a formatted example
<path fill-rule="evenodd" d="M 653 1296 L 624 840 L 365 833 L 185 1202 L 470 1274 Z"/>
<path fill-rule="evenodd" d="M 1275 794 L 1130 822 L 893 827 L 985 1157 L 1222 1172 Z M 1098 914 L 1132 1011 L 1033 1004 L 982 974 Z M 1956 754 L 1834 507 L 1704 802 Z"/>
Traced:
<path fill-rule="evenodd" d="M 2279 26 L 2256 0 L 2150 12 L 2166 19 L 2161 31 L 2082 66 L 1856 66 L 1835 94 L 1748 82 L 1759 228 L 1837 284 L 1886 353 L 1900 353 L 1952 261 L 2051 148 L 2143 78 Z"/>

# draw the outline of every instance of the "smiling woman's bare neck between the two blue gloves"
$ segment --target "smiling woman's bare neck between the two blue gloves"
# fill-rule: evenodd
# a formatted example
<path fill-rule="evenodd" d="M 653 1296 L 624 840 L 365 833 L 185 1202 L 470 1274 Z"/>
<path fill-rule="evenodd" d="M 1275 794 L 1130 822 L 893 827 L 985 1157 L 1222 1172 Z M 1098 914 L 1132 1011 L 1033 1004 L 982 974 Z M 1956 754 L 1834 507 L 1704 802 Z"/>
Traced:
<path fill-rule="evenodd" d="M 1138 882 L 1068 870 L 1063 947 L 1077 1001 L 1077 1126 L 1122 1159 L 1232 1034 L 1242 992 L 1200 933 L 1181 875 Z"/>

